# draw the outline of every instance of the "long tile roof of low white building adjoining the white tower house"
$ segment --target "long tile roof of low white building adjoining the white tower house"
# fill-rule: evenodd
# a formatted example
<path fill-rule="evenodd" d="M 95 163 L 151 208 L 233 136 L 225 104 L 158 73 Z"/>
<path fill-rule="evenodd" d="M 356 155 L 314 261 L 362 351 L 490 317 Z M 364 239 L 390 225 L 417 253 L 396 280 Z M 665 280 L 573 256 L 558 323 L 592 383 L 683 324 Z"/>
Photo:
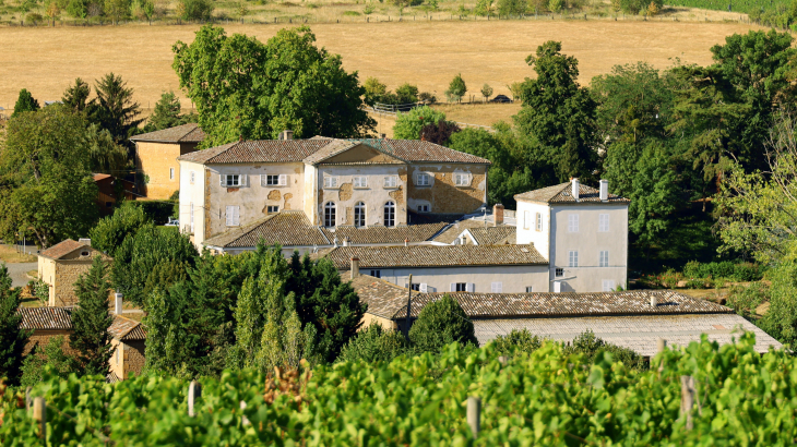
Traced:
<path fill-rule="evenodd" d="M 533 245 L 338 246 L 317 256 L 329 257 L 338 270 L 348 270 L 355 256 L 360 268 L 548 265 Z"/>

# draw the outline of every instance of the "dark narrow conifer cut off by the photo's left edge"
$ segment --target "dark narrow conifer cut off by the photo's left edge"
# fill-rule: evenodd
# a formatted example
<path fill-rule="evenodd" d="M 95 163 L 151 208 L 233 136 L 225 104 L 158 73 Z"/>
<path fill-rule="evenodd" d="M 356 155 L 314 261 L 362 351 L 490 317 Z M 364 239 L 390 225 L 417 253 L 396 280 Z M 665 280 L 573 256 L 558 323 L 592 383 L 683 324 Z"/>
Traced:
<path fill-rule="evenodd" d="M 22 352 L 31 334 L 20 328 L 22 316 L 16 313 L 22 300 L 21 290 L 11 288 L 11 276 L 5 264 L 0 264 L 0 377 L 11 384 L 20 380 Z"/>

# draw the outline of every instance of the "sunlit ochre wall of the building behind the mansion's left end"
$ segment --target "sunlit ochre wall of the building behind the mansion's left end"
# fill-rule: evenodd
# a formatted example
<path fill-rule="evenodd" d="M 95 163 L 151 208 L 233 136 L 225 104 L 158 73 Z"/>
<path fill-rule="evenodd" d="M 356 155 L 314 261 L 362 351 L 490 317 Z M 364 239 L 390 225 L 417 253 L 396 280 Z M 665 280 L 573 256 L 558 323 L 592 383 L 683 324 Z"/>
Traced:
<path fill-rule="evenodd" d="M 169 198 L 179 190 L 180 164 L 177 157 L 195 149 L 195 143 L 135 143 L 135 167 L 148 178 L 144 185 L 144 195 L 147 198 L 163 200 Z"/>

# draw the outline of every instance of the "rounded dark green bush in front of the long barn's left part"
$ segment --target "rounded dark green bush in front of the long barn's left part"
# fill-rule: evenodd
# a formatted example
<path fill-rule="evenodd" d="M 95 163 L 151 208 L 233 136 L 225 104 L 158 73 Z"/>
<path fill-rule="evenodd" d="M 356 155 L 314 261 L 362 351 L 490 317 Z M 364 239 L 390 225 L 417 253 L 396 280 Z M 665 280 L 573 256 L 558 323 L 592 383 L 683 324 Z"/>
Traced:
<path fill-rule="evenodd" d="M 439 352 L 454 341 L 478 346 L 473 323 L 448 294 L 424 306 L 409 328 L 409 341 L 417 352 Z"/>

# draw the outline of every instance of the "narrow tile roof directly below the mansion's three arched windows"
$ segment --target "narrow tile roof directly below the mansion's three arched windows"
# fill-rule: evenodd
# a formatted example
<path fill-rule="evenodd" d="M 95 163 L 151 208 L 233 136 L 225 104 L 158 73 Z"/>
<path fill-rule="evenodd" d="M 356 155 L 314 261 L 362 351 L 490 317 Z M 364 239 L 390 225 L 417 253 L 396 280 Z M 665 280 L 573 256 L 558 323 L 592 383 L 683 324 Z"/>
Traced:
<path fill-rule="evenodd" d="M 344 240 L 348 240 L 353 244 L 374 244 L 374 243 L 393 243 L 402 244 L 404 240 L 407 242 L 428 241 L 435 234 L 445 228 L 445 224 L 425 224 L 409 225 L 406 227 L 337 227 L 334 229 L 322 228 L 324 235 L 329 241 L 337 238 L 338 244 L 343 244 Z"/>

